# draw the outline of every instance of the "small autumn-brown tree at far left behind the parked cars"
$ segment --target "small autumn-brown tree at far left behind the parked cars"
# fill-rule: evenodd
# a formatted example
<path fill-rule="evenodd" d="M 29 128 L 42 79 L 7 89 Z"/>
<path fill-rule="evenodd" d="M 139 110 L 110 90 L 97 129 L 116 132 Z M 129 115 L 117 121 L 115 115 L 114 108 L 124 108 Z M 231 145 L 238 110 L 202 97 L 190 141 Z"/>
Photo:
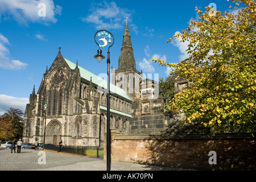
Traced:
<path fill-rule="evenodd" d="M 23 112 L 20 109 L 10 108 L 0 117 L 0 138 L 19 139 L 23 133 Z"/>

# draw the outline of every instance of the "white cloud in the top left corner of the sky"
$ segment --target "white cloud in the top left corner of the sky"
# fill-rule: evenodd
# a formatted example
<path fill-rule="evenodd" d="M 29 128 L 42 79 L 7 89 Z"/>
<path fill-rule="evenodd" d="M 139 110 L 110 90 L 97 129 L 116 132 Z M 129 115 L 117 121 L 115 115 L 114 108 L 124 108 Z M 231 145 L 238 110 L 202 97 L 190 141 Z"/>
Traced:
<path fill-rule="evenodd" d="M 44 3 L 45 6 L 39 6 Z M 55 15 L 61 15 L 61 6 L 54 5 L 53 0 L 1 0 L 0 16 L 11 17 L 19 23 L 30 22 L 53 22 L 56 23 Z M 39 11 L 44 11 L 45 16 L 39 16 Z M 5 18 L 5 17 L 4 17 Z"/>

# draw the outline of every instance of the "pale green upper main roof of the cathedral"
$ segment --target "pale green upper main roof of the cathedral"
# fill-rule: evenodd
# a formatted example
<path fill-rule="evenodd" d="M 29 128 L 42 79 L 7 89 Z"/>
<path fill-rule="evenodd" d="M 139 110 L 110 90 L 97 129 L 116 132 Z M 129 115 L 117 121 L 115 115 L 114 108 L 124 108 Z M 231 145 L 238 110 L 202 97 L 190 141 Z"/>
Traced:
<path fill-rule="evenodd" d="M 64 58 L 65 59 L 65 58 Z M 68 66 L 71 69 L 75 69 L 76 68 L 76 64 L 72 63 L 71 61 L 65 59 L 65 61 L 67 62 Z M 90 81 L 90 77 L 92 77 L 92 82 L 96 85 L 101 86 L 102 88 L 107 89 L 107 81 L 102 79 L 101 77 L 98 77 L 97 75 L 94 75 L 93 73 L 87 71 L 86 69 L 82 68 L 79 66 L 79 71 L 80 71 L 80 75 L 82 78 L 85 78 L 85 80 Z M 115 86 L 114 84 L 110 83 L 110 92 L 116 93 L 119 96 L 122 96 L 124 98 L 127 98 L 128 100 L 131 100 L 129 96 L 127 96 L 127 94 L 125 93 L 125 91 L 121 88 L 119 88 L 118 86 Z"/>

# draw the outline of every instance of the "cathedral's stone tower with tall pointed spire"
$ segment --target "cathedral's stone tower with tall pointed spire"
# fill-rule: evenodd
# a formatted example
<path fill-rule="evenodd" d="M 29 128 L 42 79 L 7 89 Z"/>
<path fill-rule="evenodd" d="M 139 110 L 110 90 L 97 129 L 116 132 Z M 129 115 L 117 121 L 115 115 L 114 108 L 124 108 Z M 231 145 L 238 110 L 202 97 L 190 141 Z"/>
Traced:
<path fill-rule="evenodd" d="M 114 75 L 115 85 L 125 90 L 131 100 L 134 101 L 137 97 L 139 97 L 141 72 L 137 71 L 136 69 L 133 46 L 131 45 L 131 36 L 127 22 L 125 32 L 123 34 L 121 55 L 118 59 L 118 69 L 115 70 Z"/>

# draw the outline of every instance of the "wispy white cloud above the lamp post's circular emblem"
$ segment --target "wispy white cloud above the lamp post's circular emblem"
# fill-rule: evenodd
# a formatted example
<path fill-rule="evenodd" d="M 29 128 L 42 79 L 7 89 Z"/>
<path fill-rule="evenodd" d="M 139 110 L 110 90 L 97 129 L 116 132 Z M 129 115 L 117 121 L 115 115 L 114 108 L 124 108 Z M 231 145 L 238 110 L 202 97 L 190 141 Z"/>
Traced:
<path fill-rule="evenodd" d="M 133 11 L 128 9 L 122 9 L 118 7 L 115 2 L 97 3 L 93 5 L 91 14 L 86 17 L 81 18 L 82 21 L 92 23 L 96 29 L 121 29 L 124 26 L 126 17 L 131 20 L 131 15 Z M 134 24 L 129 24 L 136 34 L 138 34 L 137 26 Z"/>

